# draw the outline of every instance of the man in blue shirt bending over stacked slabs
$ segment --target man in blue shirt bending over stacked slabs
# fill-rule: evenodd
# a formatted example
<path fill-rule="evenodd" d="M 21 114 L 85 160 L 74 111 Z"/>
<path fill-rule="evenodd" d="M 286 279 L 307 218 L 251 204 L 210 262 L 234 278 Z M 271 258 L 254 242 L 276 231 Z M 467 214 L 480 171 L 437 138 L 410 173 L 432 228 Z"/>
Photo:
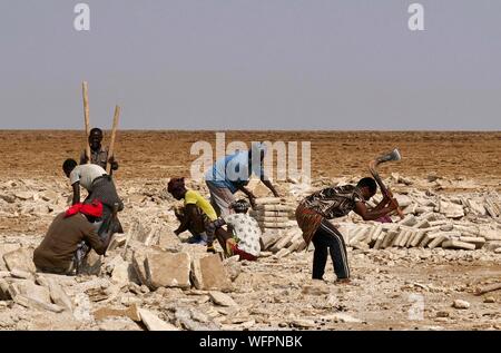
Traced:
<path fill-rule="evenodd" d="M 264 157 L 266 146 L 264 144 L 253 144 L 253 148 L 245 151 L 237 151 L 233 155 L 220 158 L 206 173 L 205 183 L 210 193 L 210 204 L 218 216 L 227 216 L 232 213 L 230 205 L 235 202 L 234 194 L 238 190 L 247 195 L 250 205 L 255 207 L 255 196 L 247 186 L 250 175 L 259 176 L 263 184 L 279 197 L 275 187 L 264 173 Z M 257 158 L 256 158 L 257 157 Z"/>

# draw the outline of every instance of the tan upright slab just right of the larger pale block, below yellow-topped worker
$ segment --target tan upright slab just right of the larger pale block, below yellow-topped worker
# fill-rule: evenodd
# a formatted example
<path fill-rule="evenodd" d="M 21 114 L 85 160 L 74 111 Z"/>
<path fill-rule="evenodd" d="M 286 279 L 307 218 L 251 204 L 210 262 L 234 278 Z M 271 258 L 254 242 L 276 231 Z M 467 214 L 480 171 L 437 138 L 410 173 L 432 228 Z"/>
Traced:
<path fill-rule="evenodd" d="M 222 292 L 233 290 L 229 275 L 218 254 L 195 258 L 191 262 L 191 280 L 197 290 Z"/>

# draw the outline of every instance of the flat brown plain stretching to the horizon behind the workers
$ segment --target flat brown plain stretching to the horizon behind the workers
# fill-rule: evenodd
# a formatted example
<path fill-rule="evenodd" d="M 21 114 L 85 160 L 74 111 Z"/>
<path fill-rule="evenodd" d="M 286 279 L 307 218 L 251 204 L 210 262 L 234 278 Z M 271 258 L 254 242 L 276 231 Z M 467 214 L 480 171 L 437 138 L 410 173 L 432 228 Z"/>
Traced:
<path fill-rule="evenodd" d="M 107 134 L 109 135 L 109 134 Z M 127 178 L 187 175 L 195 141 L 214 145 L 214 131 L 120 131 L 117 159 Z M 403 160 L 383 173 L 500 179 L 501 133 L 228 131 L 226 141 L 311 141 L 313 177 L 366 174 L 367 161 L 399 147 Z M 0 177 L 61 176 L 65 158 L 78 157 L 81 131 L 0 131 Z M 107 145 L 107 141 L 105 141 Z"/>

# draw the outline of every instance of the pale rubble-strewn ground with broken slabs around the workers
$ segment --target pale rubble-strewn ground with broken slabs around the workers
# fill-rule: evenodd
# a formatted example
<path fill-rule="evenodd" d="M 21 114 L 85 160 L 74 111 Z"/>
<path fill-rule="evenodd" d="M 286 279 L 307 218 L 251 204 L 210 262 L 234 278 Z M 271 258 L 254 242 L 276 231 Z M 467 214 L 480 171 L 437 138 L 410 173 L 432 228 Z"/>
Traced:
<path fill-rule="evenodd" d="M 426 272 L 426 269 L 432 266 L 433 268 L 436 266 L 461 268 L 477 276 L 474 283 L 482 284 L 483 287 L 495 284 L 492 276 L 497 276 L 498 272 L 491 264 L 497 264 L 499 255 L 488 251 L 495 248 L 501 251 L 501 225 L 499 218 L 492 216 L 492 214 L 495 216 L 499 196 L 495 192 L 439 195 L 433 190 L 440 187 L 453 187 L 455 182 L 444 178 L 436 180 L 442 183 L 441 186 L 428 184 L 429 189 L 425 192 L 402 186 L 400 183 L 400 187 L 393 188 L 395 195 L 399 195 L 399 192 L 402 195 L 401 200 L 405 205 L 406 215 L 404 222 L 395 216 L 393 216 L 395 223 L 392 224 L 361 222 L 360 217 L 353 213 L 333 222 L 350 246 L 348 261 L 353 281 L 352 285 L 342 287 L 335 283 L 335 275 L 328 264 L 325 282 L 317 283 L 310 280 L 313 253 L 301 252 L 305 244 L 291 214 L 287 214 L 291 227 L 264 232 L 262 245 L 265 251 L 262 252 L 257 262 L 238 262 L 237 257 L 220 262 L 218 258 L 218 265 L 206 264 L 209 269 L 202 273 L 200 264 L 204 263 L 202 259 L 207 256 L 205 247 L 181 244 L 179 238 L 173 235 L 170 226 L 177 225 L 170 208 L 173 200 L 158 197 L 156 186 L 151 185 L 135 186 L 132 194 L 141 196 L 140 207 L 127 208 L 120 216 L 125 228 L 134 232 L 119 235 L 116 246 L 110 245 L 106 256 L 98 256 L 101 261 L 99 265 L 101 271 L 97 274 L 99 277 L 96 275 L 78 277 L 33 275 L 32 271 L 22 268 L 10 271 L 3 261 L 3 255 L 19 248 L 37 246 L 53 217 L 50 213 L 37 215 L 36 204 L 47 206 L 47 209 L 60 207 L 62 210 L 66 207 L 66 196 L 60 195 L 59 190 L 67 185 L 55 188 L 58 190 L 56 200 L 53 194 L 45 195 L 48 190 L 47 185 L 28 187 L 33 195 L 38 194 L 37 202 L 35 198 L 21 200 L 13 196 L 17 189 L 9 189 L 3 194 L 12 195 L 13 203 L 0 199 L 1 207 L 6 207 L 6 213 L 0 212 L 0 215 L 6 215 L 7 222 L 13 222 L 20 215 L 27 217 L 32 231 L 22 236 L 7 232 L 0 233 L 0 329 L 47 330 L 75 326 L 75 330 L 145 330 L 146 323 L 138 325 L 137 321 L 130 318 L 134 316 L 135 308 L 139 312 L 139 307 L 149 310 L 160 321 L 160 326 L 165 329 L 166 324 L 171 330 L 269 330 L 271 327 L 272 330 L 276 327 L 333 330 L 338 329 L 340 324 L 344 324 L 341 327 L 357 327 L 365 321 L 374 327 L 387 329 L 385 325 L 389 321 L 406 322 L 406 310 L 402 311 L 401 306 L 396 308 L 393 304 L 401 305 L 402 300 L 407 303 L 406 294 L 402 291 L 425 293 L 430 296 L 430 298 L 426 297 L 426 303 L 438 304 L 430 308 L 431 313 L 435 314 L 426 315 L 424 318 L 426 322 L 420 326 L 421 329 L 456 327 L 455 325 L 460 323 L 454 315 L 459 313 L 453 311 L 441 313 L 440 306 L 450 305 L 451 296 L 456 293 L 471 293 L 473 284 L 462 275 L 463 272 L 458 272 L 461 275 L 454 284 L 445 284 L 442 282 L 448 282 L 446 276 L 436 272 Z M 413 186 L 419 186 L 421 183 L 415 179 L 411 182 Z M 127 185 L 126 180 L 124 183 Z M 330 178 L 325 178 L 322 183 L 324 184 L 314 184 L 314 187 L 337 184 Z M 308 189 L 307 193 L 313 190 Z M 297 189 L 297 195 L 294 197 L 303 198 L 305 195 L 302 193 L 303 190 Z M 0 194 L 2 194 L 1 190 Z M 293 203 L 296 204 L 296 202 Z M 287 203 L 291 203 L 289 198 Z M 282 204 L 284 202 L 281 199 Z M 459 210 L 458 206 L 462 208 L 464 216 L 454 215 L 454 212 Z M 276 213 L 276 210 L 271 212 Z M 136 219 L 129 216 L 132 214 Z M 271 216 L 268 210 L 263 210 L 263 215 Z M 143 231 L 139 229 L 139 225 L 135 225 L 135 222 L 139 220 Z M 30 235 L 32 233 L 36 235 Z M 357 236 L 355 242 L 353 242 L 354 236 Z M 276 246 L 281 241 L 279 246 Z M 449 241 L 468 243 L 469 247 L 473 245 L 475 251 L 445 249 Z M 12 244 L 4 244 L 7 242 Z M 304 247 L 301 248 L 302 246 Z M 151 286 L 151 274 L 148 278 L 145 262 L 147 258 L 154 258 L 155 256 L 151 256 L 154 254 L 166 252 L 171 255 L 185 252 L 189 254 L 191 263 L 198 263 L 195 266 L 197 271 L 188 268 L 191 283 L 187 287 L 180 290 Z M 209 256 L 219 257 L 218 255 Z M 471 265 L 479 261 L 482 262 L 482 266 L 487 263 L 485 268 L 489 271 L 471 272 L 473 268 Z M 226 272 L 223 276 L 219 276 L 220 268 Z M 130 269 L 134 271 L 130 272 Z M 137 273 L 143 275 L 143 281 L 138 278 Z M 212 276 L 216 276 L 217 281 Z M 489 276 L 490 280 L 485 281 Z M 226 288 L 190 290 L 190 285 L 197 287 L 195 278 L 202 278 L 198 284 L 220 281 L 225 283 Z M 403 278 L 412 278 L 412 281 L 404 283 Z M 66 296 L 58 290 L 50 288 L 51 280 Z M 20 293 L 20 286 L 17 283 L 22 282 L 31 282 L 29 286 L 36 286 L 36 290 L 30 292 L 33 297 L 30 298 L 28 294 Z M 47 297 L 47 291 L 49 291 L 49 297 Z M 233 303 L 238 304 L 223 306 L 213 298 L 212 291 L 225 292 L 226 298 L 229 297 Z M 232 293 L 228 295 L 229 291 Z M 481 306 L 492 312 L 495 303 L 499 302 L 497 295 L 498 293 L 492 293 L 492 297 L 479 298 L 480 302 L 485 303 Z M 12 297 L 17 297 L 17 301 Z M 387 314 L 387 321 L 380 318 L 381 310 Z M 492 327 L 495 316 L 491 312 L 485 312 L 485 315 L 472 310 L 463 312 L 471 317 L 465 318 L 461 327 L 472 327 L 473 324 L 470 324 L 472 318 L 483 327 Z M 35 314 L 39 318 L 33 320 Z M 106 317 L 100 316 L 101 314 Z M 135 318 L 137 320 L 137 316 Z M 443 326 L 433 325 L 436 324 L 434 323 L 436 318 Z M 57 323 L 61 320 L 67 324 Z M 296 320 L 298 322 L 293 324 Z M 46 324 L 42 324 L 43 321 Z"/>

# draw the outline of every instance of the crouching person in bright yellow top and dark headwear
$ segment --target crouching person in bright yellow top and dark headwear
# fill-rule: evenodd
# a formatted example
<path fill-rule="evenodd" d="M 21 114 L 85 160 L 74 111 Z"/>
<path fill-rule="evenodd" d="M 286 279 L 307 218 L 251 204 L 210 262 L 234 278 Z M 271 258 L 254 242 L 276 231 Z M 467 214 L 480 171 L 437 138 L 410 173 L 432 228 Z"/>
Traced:
<path fill-rule="evenodd" d="M 227 235 L 225 229 L 220 227 L 224 224 L 224 220 L 217 217 L 210 203 L 205 199 L 200 193 L 187 189 L 185 186 L 185 178 L 170 179 L 167 185 L 167 190 L 174 198 L 185 200 L 183 210 L 176 212 L 180 225 L 174 233 L 179 235 L 189 229 L 191 234 L 200 234 L 204 231 L 207 235 L 207 252 L 215 253 L 215 235 L 219 234 L 218 239 L 223 234 L 225 236 Z M 224 243 L 222 244 L 222 247 L 225 248 Z"/>

